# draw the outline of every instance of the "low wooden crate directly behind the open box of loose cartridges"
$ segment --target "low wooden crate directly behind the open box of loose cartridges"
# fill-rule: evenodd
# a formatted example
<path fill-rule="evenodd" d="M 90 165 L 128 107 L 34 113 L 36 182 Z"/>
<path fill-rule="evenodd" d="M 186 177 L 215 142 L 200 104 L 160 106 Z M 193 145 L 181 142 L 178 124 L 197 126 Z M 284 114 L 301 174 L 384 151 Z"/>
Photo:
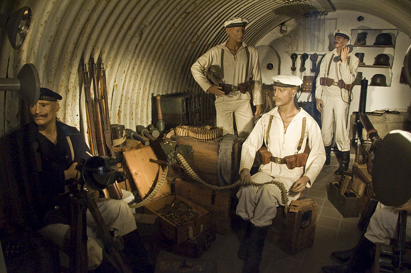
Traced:
<path fill-rule="evenodd" d="M 231 232 L 231 191 L 213 191 L 193 181 L 175 179 L 175 192 L 179 196 L 211 211 L 213 225 L 219 234 Z"/>

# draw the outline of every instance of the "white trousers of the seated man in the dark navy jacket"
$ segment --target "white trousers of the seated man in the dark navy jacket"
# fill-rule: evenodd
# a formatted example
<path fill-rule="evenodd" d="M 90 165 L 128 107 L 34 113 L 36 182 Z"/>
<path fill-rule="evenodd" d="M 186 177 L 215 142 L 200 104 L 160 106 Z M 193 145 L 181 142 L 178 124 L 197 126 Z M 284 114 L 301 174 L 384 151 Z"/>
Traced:
<path fill-rule="evenodd" d="M 122 200 L 99 198 L 97 207 L 104 219 L 104 222 L 114 231 L 115 235 L 125 235 L 137 228 L 133 213 L 127 203 Z M 86 212 L 87 221 L 87 269 L 96 269 L 103 260 L 103 243 L 99 239 L 97 225 L 89 210 Z M 40 229 L 40 233 L 51 239 L 60 248 L 60 263 L 69 267 L 69 257 L 65 250 L 69 246 L 65 245 L 69 240 L 64 240 L 70 226 L 65 224 L 51 224 Z"/>

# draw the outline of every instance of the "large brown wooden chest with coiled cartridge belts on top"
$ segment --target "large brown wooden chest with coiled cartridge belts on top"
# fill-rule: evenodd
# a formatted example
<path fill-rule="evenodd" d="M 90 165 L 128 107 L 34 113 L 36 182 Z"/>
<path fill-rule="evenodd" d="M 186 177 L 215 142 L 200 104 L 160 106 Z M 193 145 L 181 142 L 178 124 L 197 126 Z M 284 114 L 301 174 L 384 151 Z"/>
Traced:
<path fill-rule="evenodd" d="M 190 167 L 204 181 L 211 185 L 218 185 L 218 153 L 221 138 L 213 141 L 202 142 L 188 136 L 177 136 L 177 145 L 188 144 L 194 153 L 186 156 L 185 160 Z M 238 168 L 241 159 L 241 145 L 243 138 L 236 138 L 233 142 L 231 153 L 231 183 L 239 179 Z"/>

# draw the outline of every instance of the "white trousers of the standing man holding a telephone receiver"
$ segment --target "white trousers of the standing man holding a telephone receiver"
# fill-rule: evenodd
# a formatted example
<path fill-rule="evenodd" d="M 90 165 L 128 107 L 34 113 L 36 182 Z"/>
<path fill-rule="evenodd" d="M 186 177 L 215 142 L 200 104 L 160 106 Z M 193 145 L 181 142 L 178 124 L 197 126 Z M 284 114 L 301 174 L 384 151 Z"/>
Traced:
<path fill-rule="evenodd" d="M 347 129 L 347 111 L 348 104 L 341 98 L 322 97 L 323 112 L 321 113 L 321 135 L 324 145 L 331 145 L 332 125 L 335 120 L 335 143 L 338 150 L 346 152 L 350 150 L 350 139 Z"/>

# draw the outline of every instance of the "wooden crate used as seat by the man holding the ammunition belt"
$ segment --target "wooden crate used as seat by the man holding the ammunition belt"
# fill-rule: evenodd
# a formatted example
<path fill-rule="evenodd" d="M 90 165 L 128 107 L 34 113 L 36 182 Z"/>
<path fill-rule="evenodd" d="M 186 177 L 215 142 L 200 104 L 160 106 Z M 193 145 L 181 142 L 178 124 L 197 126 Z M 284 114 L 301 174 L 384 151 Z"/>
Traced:
<path fill-rule="evenodd" d="M 287 213 L 287 223 L 284 207 L 278 207 L 273 224 L 267 231 L 267 240 L 291 255 L 314 244 L 317 223 L 318 205 L 315 201 L 306 197 L 297 201 L 297 212 Z"/>

